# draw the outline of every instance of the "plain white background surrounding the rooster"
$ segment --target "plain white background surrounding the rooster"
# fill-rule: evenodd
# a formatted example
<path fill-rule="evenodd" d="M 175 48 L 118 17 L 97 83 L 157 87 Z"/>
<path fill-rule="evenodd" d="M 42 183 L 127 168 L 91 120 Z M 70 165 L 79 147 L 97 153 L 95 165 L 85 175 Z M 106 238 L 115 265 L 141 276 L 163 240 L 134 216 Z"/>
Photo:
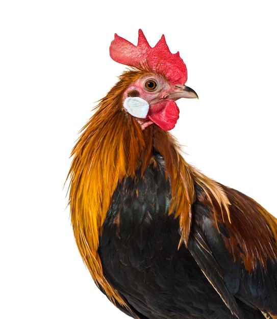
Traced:
<path fill-rule="evenodd" d="M 124 318 L 75 246 L 63 184 L 78 131 L 124 69 L 114 33 L 180 51 L 172 130 L 187 161 L 277 216 L 274 1 L 6 1 L 0 6 L 0 317 Z M 249 231 L 251 231 L 249 229 Z"/>

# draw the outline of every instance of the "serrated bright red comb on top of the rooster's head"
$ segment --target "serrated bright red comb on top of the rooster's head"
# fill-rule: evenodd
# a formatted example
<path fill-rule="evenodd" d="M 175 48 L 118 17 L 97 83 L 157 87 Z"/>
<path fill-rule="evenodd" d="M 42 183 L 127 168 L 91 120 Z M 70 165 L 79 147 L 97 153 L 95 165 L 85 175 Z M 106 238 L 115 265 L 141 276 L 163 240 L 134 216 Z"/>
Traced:
<path fill-rule="evenodd" d="M 164 35 L 154 47 L 150 47 L 141 30 L 137 46 L 115 34 L 110 56 L 114 61 L 129 66 L 149 65 L 153 71 L 165 74 L 172 84 L 183 85 L 187 81 L 186 65 L 179 52 L 172 54 L 169 51 Z"/>

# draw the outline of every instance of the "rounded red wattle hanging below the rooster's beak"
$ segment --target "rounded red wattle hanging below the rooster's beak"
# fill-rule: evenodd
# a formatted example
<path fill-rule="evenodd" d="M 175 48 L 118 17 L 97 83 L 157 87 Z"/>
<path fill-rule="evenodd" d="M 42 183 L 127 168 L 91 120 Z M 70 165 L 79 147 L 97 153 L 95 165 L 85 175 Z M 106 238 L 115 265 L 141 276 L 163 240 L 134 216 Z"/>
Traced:
<path fill-rule="evenodd" d="M 179 119 L 179 108 L 173 100 L 164 100 L 152 105 L 148 112 L 148 118 L 161 129 L 172 129 Z"/>

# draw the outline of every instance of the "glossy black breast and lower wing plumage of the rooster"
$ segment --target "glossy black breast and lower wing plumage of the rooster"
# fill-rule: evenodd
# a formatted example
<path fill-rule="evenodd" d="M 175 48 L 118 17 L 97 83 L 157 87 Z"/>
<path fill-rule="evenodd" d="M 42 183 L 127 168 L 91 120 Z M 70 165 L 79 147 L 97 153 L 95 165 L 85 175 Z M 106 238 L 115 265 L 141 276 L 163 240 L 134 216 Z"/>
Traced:
<path fill-rule="evenodd" d="M 159 154 L 137 180 L 126 177 L 114 192 L 100 236 L 104 276 L 135 318 L 264 318 L 277 313 L 277 262 L 258 263 L 248 273 L 224 245 L 230 236 L 215 225 L 211 207 L 195 184 L 188 247 L 181 245 L 179 219 L 168 215 L 170 180 Z M 232 203 L 231 203 L 232 204 Z"/>

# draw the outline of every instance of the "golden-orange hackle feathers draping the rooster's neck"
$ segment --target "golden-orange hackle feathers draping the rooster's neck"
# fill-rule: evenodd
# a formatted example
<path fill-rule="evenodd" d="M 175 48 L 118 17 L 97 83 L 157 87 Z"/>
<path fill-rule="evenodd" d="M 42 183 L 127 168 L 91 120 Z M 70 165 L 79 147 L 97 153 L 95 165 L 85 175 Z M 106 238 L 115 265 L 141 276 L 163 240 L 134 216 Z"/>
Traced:
<path fill-rule="evenodd" d="M 103 287 L 113 302 L 121 305 L 125 305 L 124 301 L 103 275 L 97 252 L 99 235 L 117 183 L 124 176 L 135 178 L 138 168 L 142 175 L 149 164 L 155 164 L 153 146 L 164 157 L 170 178 L 169 214 L 174 212 L 175 217 L 180 218 L 180 245 L 188 242 L 194 182 L 203 187 L 212 206 L 211 198 L 217 202 L 222 218 L 225 214 L 230 220 L 229 201 L 220 185 L 186 163 L 174 138 L 156 125 L 141 130 L 138 122 L 122 111 L 123 91 L 146 73 L 149 70 L 124 72 L 100 100 L 72 150 L 68 174 L 71 222 L 79 251 L 96 284 Z"/>

